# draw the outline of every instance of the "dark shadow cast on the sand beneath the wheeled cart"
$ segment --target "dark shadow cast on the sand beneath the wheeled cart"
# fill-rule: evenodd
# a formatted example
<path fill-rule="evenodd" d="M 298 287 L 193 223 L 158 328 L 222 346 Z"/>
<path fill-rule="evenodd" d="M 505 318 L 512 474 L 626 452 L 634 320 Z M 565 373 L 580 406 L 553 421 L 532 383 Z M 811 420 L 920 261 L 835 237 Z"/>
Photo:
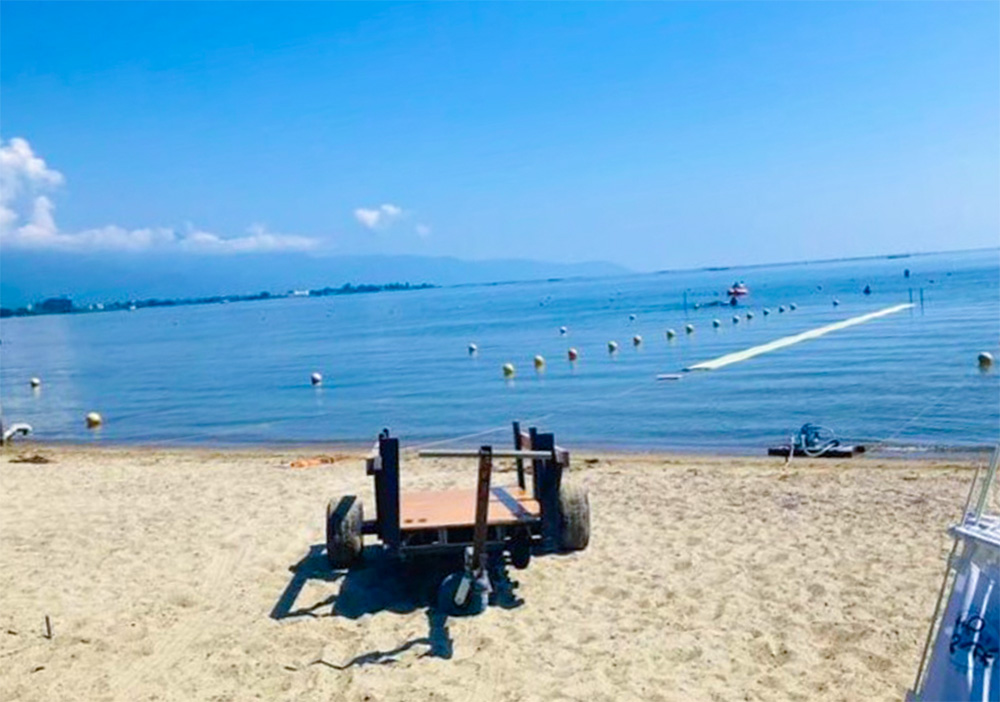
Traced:
<path fill-rule="evenodd" d="M 453 641 L 448 629 L 448 617 L 435 606 L 438 586 L 446 575 L 454 572 L 453 559 L 434 558 L 402 562 L 392 558 L 378 546 L 365 548 L 361 564 L 347 570 L 330 567 L 326 557 L 326 546 L 314 544 L 298 563 L 289 567 L 293 573 L 291 580 L 271 610 L 270 617 L 276 620 L 293 617 L 345 617 L 358 619 L 366 614 L 409 614 L 425 609 L 427 614 L 427 636 L 411 639 L 389 651 L 363 653 L 342 665 L 325 660 L 314 661 L 336 670 L 368 664 L 391 663 L 399 654 L 416 646 L 426 646 L 421 658 L 450 659 Z M 493 592 L 490 605 L 503 609 L 514 609 L 523 600 L 514 594 L 517 582 L 510 579 L 507 564 L 499 559 L 491 559 L 490 581 Z M 339 583 L 338 591 L 313 603 L 299 604 L 298 599 L 309 581 Z"/>

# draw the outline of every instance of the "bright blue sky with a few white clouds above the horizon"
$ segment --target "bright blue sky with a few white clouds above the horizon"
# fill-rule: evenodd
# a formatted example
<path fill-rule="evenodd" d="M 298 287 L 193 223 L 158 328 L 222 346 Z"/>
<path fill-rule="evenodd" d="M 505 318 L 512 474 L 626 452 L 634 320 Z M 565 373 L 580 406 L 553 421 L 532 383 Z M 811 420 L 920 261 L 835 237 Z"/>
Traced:
<path fill-rule="evenodd" d="M 2 245 L 636 270 L 995 246 L 998 8 L 5 2 Z"/>

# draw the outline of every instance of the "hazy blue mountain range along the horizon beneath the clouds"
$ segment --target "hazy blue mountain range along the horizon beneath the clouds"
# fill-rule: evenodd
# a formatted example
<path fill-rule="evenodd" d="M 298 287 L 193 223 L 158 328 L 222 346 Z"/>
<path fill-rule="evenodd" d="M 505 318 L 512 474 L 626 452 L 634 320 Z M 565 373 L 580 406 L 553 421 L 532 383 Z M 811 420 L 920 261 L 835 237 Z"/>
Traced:
<path fill-rule="evenodd" d="M 109 300 L 187 298 L 339 287 L 344 283 L 456 285 L 545 278 L 598 277 L 630 271 L 604 262 L 519 259 L 465 261 L 425 256 L 157 256 L 0 253 L 0 306 L 68 297 L 86 305 Z"/>

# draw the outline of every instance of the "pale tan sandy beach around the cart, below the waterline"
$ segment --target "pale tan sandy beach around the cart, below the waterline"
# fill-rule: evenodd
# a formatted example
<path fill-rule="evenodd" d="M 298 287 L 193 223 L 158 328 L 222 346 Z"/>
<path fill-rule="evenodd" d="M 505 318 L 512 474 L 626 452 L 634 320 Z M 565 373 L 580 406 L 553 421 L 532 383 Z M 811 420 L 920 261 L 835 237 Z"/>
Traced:
<path fill-rule="evenodd" d="M 11 461 L 34 453 L 52 462 Z M 971 480 L 959 462 L 574 455 L 590 548 L 511 571 L 520 606 L 442 620 L 385 568 L 326 570 L 327 499 L 372 501 L 360 453 L 287 467 L 317 453 L 8 449 L 0 699 L 898 700 Z M 471 463 L 403 470 L 413 489 L 475 481 Z"/>

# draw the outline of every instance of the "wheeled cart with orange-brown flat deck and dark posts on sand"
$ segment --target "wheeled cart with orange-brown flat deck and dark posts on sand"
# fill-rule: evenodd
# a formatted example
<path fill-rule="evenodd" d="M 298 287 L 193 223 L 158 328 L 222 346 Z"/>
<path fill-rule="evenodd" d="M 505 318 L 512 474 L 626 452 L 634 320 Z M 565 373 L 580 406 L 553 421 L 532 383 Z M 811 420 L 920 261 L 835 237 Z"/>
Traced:
<path fill-rule="evenodd" d="M 586 490 L 565 479 L 569 452 L 553 434 L 514 422 L 514 448 L 421 451 L 422 457 L 474 458 L 479 464 L 474 489 L 400 491 L 399 439 L 383 430 L 366 459 L 375 481 L 375 519 L 365 519 L 355 495 L 327 506 L 327 558 L 335 569 L 357 565 L 365 535 L 403 560 L 425 556 L 462 556 L 464 567 L 444 579 L 438 606 L 450 614 L 481 611 L 491 585 L 488 559 L 508 555 L 526 568 L 534 553 L 578 551 L 590 541 L 590 504 Z M 513 458 L 517 484 L 492 484 L 493 461 Z M 526 469 L 526 463 L 530 471 Z M 530 485 L 528 473 L 530 472 Z"/>

